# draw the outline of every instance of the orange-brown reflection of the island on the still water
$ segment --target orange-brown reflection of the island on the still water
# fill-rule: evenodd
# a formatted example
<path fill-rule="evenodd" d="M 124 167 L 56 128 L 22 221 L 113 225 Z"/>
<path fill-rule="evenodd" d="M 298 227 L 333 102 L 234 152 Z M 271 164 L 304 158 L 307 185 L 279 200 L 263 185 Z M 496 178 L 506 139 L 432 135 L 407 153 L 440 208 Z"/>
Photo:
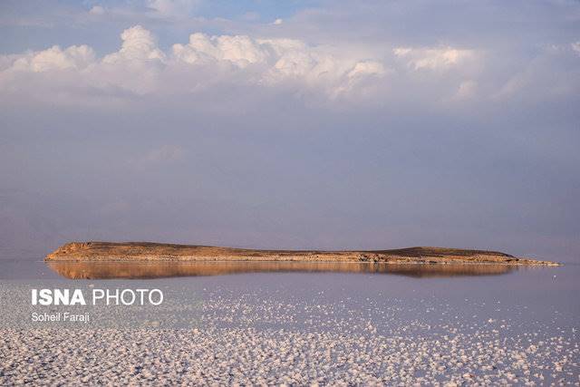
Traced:
<path fill-rule="evenodd" d="M 70 279 L 163 278 L 172 276 L 222 276 L 266 272 L 338 272 L 412 277 L 497 276 L 517 266 L 418 265 L 358 262 L 47 262 L 60 276 Z"/>

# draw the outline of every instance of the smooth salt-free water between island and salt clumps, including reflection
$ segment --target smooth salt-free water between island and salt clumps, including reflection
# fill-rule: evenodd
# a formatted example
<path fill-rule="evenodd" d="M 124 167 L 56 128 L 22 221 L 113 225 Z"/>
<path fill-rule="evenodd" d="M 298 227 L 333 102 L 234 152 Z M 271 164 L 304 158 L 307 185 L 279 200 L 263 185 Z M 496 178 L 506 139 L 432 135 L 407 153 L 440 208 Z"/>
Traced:
<path fill-rule="evenodd" d="M 132 279 L 187 285 L 206 298 L 216 295 L 274 297 L 280 302 L 313 301 L 363 308 L 388 301 L 425 300 L 520 323 L 576 326 L 580 321 L 580 266 L 381 265 L 349 263 L 50 263 L 0 260 L 2 280 L 59 280 L 82 284 Z M 422 300 L 422 301 L 421 301 Z M 251 300 L 250 300 L 251 301 Z M 256 301 L 257 302 L 257 301 Z"/>

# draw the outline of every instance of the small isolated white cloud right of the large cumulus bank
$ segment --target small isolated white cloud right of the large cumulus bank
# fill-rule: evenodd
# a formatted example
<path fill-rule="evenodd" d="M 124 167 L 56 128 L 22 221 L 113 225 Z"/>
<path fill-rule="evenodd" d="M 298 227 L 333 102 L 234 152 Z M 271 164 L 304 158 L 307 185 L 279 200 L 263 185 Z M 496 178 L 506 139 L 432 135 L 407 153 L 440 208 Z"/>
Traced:
<path fill-rule="evenodd" d="M 397 47 L 393 50 L 396 57 L 406 61 L 414 70 L 447 70 L 475 57 L 473 50 L 453 47 L 411 48 Z"/>

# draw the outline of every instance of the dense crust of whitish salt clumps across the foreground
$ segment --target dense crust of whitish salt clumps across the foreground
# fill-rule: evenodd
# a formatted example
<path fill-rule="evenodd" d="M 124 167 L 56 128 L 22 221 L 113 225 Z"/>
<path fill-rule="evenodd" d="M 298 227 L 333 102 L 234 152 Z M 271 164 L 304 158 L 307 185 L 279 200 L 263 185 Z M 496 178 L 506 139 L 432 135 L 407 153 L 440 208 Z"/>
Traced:
<path fill-rule="evenodd" d="M 418 337 L 256 328 L 3 330 L 0 382 L 577 383 L 576 336 L 492 328 Z"/>

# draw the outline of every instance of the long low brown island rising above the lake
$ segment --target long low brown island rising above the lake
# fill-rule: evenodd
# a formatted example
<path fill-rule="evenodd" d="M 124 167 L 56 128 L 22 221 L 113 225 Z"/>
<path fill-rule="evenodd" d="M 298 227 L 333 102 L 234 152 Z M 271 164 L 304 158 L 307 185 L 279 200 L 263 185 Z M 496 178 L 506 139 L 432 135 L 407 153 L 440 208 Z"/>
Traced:
<path fill-rule="evenodd" d="M 391 250 L 321 251 L 256 250 L 233 247 L 173 245 L 151 242 L 72 242 L 57 248 L 46 261 L 81 262 L 369 262 L 386 264 L 501 264 L 557 266 L 555 262 L 510 256 L 498 251 L 445 247 Z"/>

